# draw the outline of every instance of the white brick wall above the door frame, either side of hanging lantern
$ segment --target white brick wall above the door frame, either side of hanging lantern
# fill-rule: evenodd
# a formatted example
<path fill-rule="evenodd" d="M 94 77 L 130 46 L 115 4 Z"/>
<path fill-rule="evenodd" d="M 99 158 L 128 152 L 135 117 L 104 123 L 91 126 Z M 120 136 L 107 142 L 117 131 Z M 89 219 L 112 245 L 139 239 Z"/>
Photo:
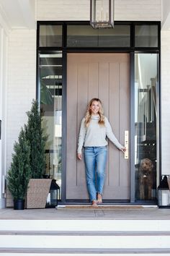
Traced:
<path fill-rule="evenodd" d="M 89 20 L 90 0 L 37 0 L 37 20 Z M 161 20 L 161 0 L 115 0 L 115 20 Z"/>

